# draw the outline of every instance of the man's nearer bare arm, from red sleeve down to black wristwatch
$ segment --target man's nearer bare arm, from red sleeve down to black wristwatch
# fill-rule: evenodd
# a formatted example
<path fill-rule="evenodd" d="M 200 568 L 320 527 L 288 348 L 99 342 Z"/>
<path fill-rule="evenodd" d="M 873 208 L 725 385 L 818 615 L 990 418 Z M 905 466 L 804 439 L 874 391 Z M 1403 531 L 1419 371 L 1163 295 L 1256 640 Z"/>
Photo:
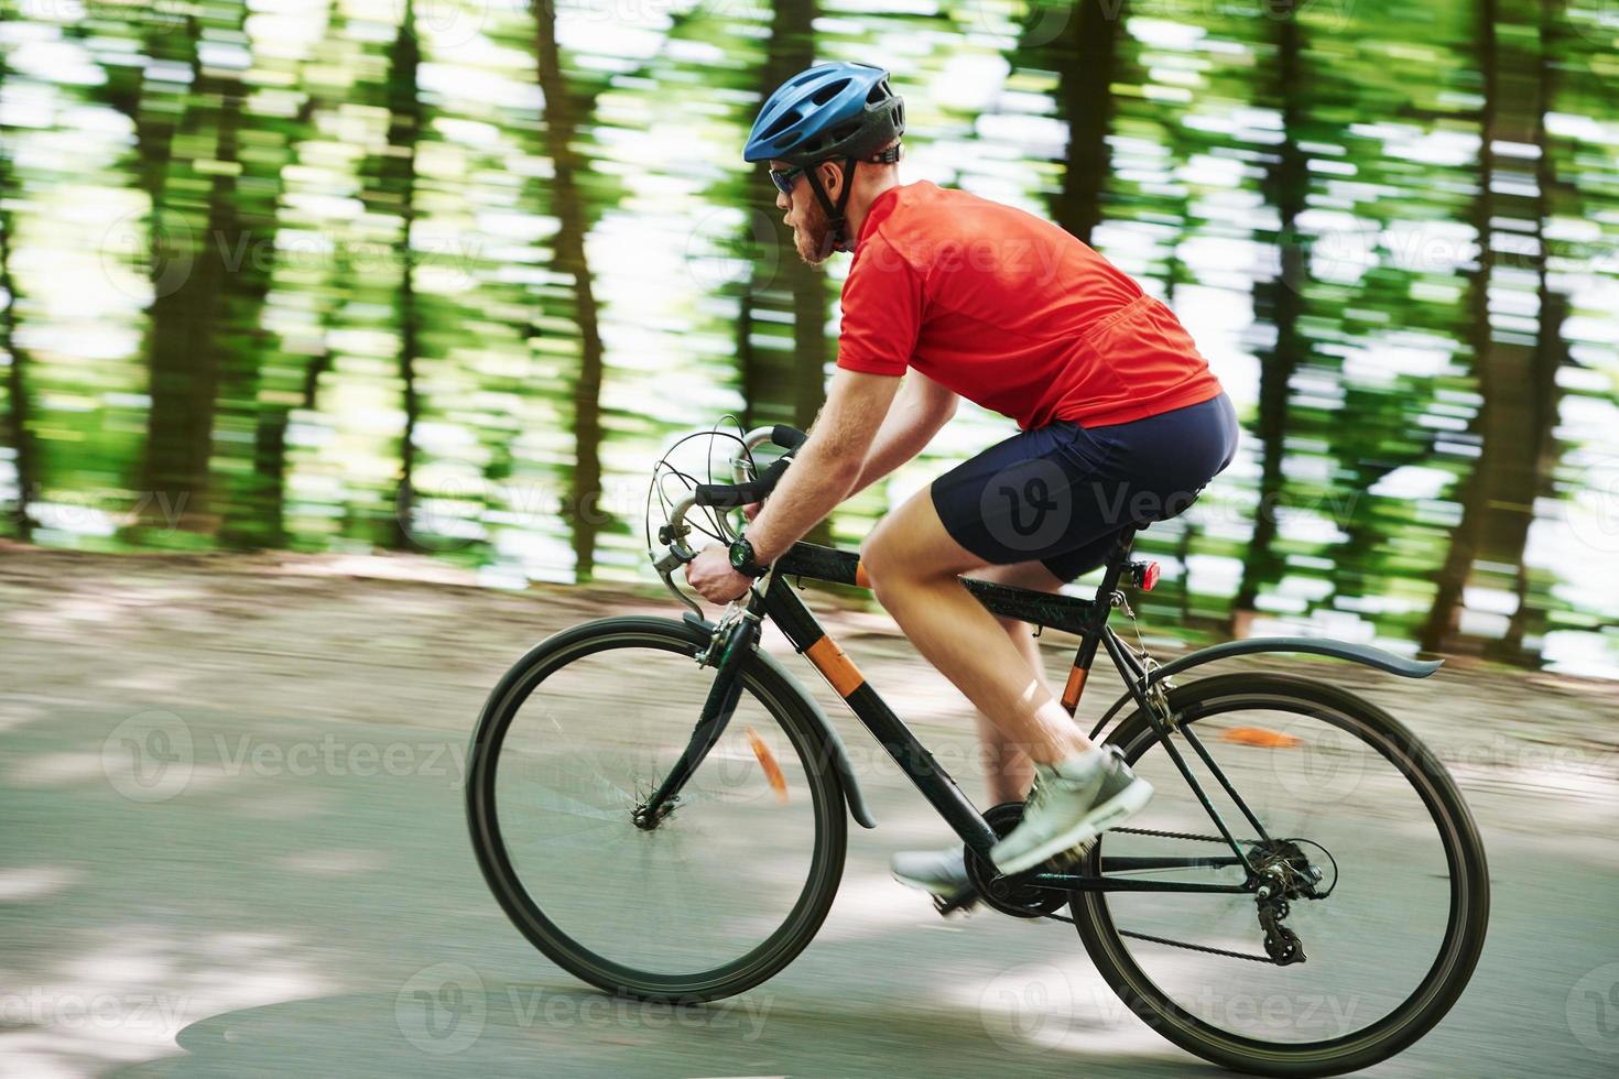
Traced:
<path fill-rule="evenodd" d="M 843 369 L 832 375 L 810 440 L 748 526 L 754 558 L 774 561 L 855 492 L 899 388 L 897 375 Z"/>

